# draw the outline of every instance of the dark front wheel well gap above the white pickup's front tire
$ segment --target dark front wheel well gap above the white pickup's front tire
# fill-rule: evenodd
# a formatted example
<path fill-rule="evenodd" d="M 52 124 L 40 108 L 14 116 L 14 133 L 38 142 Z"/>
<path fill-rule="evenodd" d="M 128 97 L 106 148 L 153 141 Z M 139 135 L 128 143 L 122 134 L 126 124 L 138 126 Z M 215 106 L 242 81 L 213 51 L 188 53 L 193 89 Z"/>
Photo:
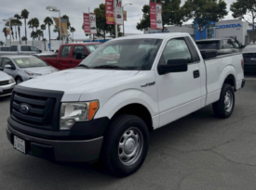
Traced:
<path fill-rule="evenodd" d="M 130 114 L 130 115 L 137 116 L 146 123 L 149 132 L 152 132 L 154 130 L 151 114 L 149 110 L 144 106 L 142 106 L 141 104 L 130 104 L 124 108 L 120 108 L 115 113 L 114 117 L 120 114 Z"/>

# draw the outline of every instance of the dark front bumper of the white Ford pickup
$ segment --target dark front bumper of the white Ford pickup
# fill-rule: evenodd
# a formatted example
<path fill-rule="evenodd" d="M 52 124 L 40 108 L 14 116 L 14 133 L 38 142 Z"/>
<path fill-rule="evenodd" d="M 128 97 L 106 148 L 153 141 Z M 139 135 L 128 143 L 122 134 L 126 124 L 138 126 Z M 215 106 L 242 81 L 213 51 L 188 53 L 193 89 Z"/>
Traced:
<path fill-rule="evenodd" d="M 7 138 L 13 145 L 14 135 L 25 140 L 26 154 L 56 161 L 91 162 L 101 154 L 103 137 L 91 140 L 48 140 L 20 133 L 9 125 Z"/>

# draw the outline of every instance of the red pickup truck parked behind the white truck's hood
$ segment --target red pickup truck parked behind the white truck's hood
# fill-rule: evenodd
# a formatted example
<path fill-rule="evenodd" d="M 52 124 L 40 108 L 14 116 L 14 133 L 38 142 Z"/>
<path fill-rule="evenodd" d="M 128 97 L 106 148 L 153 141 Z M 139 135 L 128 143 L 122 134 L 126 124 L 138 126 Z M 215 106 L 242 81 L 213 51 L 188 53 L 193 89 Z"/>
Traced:
<path fill-rule="evenodd" d="M 101 43 L 61 44 L 57 55 L 38 56 L 58 70 L 75 68 L 83 59 L 97 49 Z"/>

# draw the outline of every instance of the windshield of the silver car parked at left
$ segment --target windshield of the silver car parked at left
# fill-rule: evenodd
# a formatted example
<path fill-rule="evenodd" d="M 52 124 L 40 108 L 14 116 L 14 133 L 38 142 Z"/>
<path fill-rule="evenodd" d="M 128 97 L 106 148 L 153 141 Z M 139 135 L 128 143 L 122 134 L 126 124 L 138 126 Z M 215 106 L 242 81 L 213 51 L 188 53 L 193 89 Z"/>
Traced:
<path fill-rule="evenodd" d="M 45 67 L 47 63 L 37 57 L 13 58 L 19 68 Z"/>

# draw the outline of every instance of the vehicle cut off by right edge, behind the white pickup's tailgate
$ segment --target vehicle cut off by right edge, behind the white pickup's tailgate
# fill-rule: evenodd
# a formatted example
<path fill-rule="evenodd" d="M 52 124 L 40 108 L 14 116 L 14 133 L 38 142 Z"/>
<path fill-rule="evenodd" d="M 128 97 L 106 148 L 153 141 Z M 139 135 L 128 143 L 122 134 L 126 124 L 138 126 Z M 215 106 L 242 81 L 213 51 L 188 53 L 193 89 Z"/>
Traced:
<path fill-rule="evenodd" d="M 245 71 L 256 71 L 256 44 L 249 44 L 243 50 Z"/>

